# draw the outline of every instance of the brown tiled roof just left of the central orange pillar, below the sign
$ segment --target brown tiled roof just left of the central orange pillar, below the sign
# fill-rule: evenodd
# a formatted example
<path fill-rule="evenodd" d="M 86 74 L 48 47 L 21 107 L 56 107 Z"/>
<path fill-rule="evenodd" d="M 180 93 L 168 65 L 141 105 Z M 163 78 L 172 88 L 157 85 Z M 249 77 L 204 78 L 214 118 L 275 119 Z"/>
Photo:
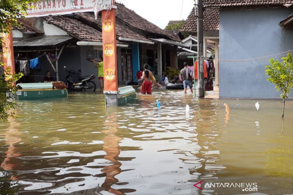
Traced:
<path fill-rule="evenodd" d="M 81 41 L 102 42 L 102 32 L 69 16 L 46 16 L 42 17 L 49 24 L 57 26 L 68 34 Z"/>

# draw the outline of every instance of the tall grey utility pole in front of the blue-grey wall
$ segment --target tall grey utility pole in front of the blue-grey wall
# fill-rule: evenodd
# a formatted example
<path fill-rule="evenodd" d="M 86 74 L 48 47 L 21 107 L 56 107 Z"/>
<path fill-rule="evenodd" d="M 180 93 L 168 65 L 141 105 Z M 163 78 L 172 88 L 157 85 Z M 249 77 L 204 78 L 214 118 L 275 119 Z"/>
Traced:
<path fill-rule="evenodd" d="M 198 97 L 205 97 L 205 76 L 203 56 L 203 4 L 197 0 L 197 65 L 198 65 Z"/>

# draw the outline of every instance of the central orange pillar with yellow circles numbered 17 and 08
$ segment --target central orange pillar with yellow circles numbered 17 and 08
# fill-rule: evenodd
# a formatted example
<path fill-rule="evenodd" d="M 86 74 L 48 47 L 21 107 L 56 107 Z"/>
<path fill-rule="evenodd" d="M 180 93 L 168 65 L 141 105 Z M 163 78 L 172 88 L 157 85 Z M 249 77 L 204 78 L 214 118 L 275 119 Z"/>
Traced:
<path fill-rule="evenodd" d="M 115 9 L 102 11 L 104 91 L 118 91 Z"/>

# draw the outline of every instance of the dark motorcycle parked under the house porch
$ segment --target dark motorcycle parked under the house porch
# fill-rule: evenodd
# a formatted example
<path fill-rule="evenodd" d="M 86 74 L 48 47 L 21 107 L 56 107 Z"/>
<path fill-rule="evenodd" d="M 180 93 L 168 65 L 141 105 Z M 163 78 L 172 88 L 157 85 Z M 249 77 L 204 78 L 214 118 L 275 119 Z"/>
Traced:
<path fill-rule="evenodd" d="M 85 76 L 85 77 L 77 77 L 79 82 L 74 82 L 72 75 L 79 75 L 79 73 L 75 72 L 74 70 L 69 70 L 64 66 L 68 75 L 65 77 L 66 81 L 65 84 L 67 85 L 67 89 L 71 86 L 72 89 L 76 90 L 85 90 L 87 92 L 94 92 L 96 91 L 96 83 L 94 82 L 95 75 Z"/>

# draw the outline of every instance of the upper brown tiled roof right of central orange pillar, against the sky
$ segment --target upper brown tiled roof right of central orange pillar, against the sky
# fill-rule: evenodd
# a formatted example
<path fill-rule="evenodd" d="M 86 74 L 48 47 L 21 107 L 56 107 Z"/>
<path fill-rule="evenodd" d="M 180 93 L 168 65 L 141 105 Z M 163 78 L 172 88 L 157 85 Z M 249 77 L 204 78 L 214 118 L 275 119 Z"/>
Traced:
<path fill-rule="evenodd" d="M 117 6 L 116 17 L 118 19 L 122 20 L 124 23 L 126 23 L 134 28 L 137 28 L 139 30 L 143 30 L 143 31 L 150 32 L 153 34 L 161 34 L 163 36 L 167 36 L 171 40 L 178 41 L 178 39 L 176 37 L 170 36 L 170 34 L 166 33 L 163 29 L 161 29 L 160 27 L 149 22 L 148 20 L 141 17 L 140 15 L 135 13 L 134 11 L 125 7 L 124 5 L 119 4 L 119 3 L 116 3 L 115 5 Z M 150 13 L 150 14 L 152 14 L 152 13 Z"/>

